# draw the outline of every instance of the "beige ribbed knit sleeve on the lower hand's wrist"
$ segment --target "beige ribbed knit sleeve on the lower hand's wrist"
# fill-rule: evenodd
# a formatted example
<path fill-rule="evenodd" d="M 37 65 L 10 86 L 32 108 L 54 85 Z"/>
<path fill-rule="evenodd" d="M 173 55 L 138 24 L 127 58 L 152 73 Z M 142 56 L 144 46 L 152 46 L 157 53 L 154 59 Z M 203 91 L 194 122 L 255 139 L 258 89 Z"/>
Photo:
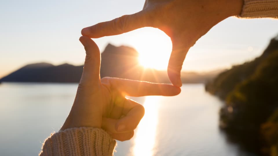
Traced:
<path fill-rule="evenodd" d="M 40 156 L 111 156 L 116 141 L 99 128 L 71 128 L 51 134 Z"/>

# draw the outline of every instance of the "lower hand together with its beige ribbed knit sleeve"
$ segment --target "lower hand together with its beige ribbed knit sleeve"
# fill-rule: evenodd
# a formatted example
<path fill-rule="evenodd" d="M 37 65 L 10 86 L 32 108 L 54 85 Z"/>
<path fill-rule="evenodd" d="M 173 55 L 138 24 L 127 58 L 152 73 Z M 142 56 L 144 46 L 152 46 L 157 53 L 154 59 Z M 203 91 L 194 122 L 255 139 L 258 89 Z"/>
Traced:
<path fill-rule="evenodd" d="M 100 51 L 96 43 L 82 36 L 86 50 L 82 77 L 72 109 L 58 133 L 45 140 L 41 156 L 113 155 L 116 140 L 133 137 L 145 110 L 125 96 L 173 96 L 180 88 L 104 77 L 100 79 Z"/>

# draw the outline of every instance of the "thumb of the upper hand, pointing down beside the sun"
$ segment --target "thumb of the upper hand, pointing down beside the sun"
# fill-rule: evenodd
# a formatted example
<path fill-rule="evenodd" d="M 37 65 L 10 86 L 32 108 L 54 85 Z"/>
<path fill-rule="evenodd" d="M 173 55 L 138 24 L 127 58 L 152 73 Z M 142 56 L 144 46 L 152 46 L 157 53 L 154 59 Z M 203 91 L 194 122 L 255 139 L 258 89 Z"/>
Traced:
<path fill-rule="evenodd" d="M 172 53 L 168 64 L 168 77 L 174 86 L 181 87 L 182 81 L 180 79 L 180 71 L 182 70 L 182 64 L 190 46 L 185 45 L 184 40 L 172 39 Z"/>

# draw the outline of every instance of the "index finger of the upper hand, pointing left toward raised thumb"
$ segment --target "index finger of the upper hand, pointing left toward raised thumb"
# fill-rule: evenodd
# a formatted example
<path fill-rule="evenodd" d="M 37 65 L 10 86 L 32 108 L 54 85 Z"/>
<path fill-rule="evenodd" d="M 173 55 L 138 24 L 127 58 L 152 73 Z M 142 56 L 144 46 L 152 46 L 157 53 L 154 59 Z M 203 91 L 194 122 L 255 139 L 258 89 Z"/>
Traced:
<path fill-rule="evenodd" d="M 90 38 L 118 35 L 138 28 L 147 27 L 147 23 L 149 23 L 148 19 L 150 19 L 148 18 L 148 13 L 142 10 L 135 14 L 124 15 L 111 21 L 83 28 L 81 34 Z"/>

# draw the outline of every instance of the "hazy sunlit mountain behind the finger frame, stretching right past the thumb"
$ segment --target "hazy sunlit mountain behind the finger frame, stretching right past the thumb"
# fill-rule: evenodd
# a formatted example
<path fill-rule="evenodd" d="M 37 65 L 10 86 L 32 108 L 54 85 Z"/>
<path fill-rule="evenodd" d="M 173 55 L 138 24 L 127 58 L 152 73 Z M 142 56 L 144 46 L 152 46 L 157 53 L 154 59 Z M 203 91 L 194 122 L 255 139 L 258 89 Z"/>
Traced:
<path fill-rule="evenodd" d="M 126 46 L 115 47 L 108 44 L 101 53 L 100 77 L 119 77 L 156 83 L 170 83 L 167 72 L 142 67 L 138 62 L 138 52 Z M 183 83 L 205 83 L 215 77 L 220 70 L 208 73 L 182 72 Z"/>

